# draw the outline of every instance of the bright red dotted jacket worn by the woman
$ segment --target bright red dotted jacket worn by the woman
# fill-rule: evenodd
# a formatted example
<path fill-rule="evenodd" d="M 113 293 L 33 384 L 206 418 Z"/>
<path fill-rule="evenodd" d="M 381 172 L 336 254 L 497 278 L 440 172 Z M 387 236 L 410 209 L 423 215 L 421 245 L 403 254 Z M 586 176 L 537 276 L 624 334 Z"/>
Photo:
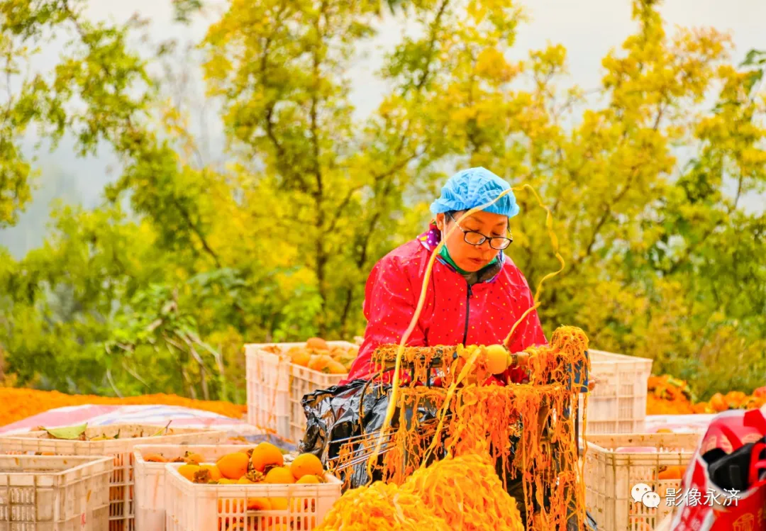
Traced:
<path fill-rule="evenodd" d="M 345 382 L 368 380 L 375 368 L 372 353 L 381 344 L 398 344 L 417 306 L 431 249 L 438 243 L 438 230 L 428 233 L 384 256 L 367 280 L 364 312 L 368 324 L 365 340 Z M 493 278 L 468 286 L 466 279 L 437 257 L 426 300 L 407 344 L 412 347 L 457 344 L 498 344 L 532 304 L 532 292 L 507 256 Z M 516 328 L 509 348 L 519 352 L 532 345 L 547 344 L 537 311 L 532 311 Z M 506 373 L 511 381 L 523 373 Z"/>

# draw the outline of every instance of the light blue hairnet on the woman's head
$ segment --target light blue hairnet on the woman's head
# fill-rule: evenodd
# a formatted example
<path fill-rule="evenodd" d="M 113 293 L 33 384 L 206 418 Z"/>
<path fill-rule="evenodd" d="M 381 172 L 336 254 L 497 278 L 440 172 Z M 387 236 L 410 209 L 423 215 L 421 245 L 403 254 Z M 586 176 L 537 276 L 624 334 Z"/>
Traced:
<path fill-rule="evenodd" d="M 481 207 L 510 187 L 510 184 L 486 168 L 468 168 L 458 171 L 447 179 L 444 187 L 441 188 L 441 197 L 431 204 L 430 210 L 438 214 L 450 210 L 470 210 Z M 519 205 L 516 204 L 516 196 L 513 192 L 509 192 L 484 210 L 514 217 L 519 213 Z"/>

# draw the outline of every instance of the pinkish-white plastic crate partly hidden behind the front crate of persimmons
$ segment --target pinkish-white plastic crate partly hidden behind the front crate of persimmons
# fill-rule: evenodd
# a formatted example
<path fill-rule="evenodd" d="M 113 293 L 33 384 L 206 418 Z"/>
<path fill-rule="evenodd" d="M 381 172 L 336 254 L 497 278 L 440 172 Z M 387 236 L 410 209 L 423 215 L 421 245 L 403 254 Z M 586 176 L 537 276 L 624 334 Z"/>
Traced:
<path fill-rule="evenodd" d="M 206 460 L 215 462 L 232 451 L 254 448 L 250 445 L 138 445 L 133 451 L 136 462 L 136 529 L 162 531 L 165 529 L 165 463 L 144 461 L 149 453 L 161 454 L 172 461 L 182 458 L 186 451 L 195 451 Z"/>

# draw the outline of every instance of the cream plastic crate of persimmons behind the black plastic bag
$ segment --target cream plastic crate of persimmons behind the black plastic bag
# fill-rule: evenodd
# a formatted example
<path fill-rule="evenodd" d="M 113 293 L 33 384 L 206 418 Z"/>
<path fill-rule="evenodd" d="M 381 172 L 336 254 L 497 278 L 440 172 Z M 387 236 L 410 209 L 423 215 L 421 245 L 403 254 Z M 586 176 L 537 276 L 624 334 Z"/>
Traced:
<path fill-rule="evenodd" d="M 328 341 L 330 347 L 355 348 L 348 341 Z M 281 438 L 300 441 L 306 431 L 301 400 L 317 389 L 327 389 L 347 374 L 326 374 L 290 363 L 284 353 L 305 343 L 247 344 L 247 422 Z M 280 354 L 265 347 L 279 347 Z"/>

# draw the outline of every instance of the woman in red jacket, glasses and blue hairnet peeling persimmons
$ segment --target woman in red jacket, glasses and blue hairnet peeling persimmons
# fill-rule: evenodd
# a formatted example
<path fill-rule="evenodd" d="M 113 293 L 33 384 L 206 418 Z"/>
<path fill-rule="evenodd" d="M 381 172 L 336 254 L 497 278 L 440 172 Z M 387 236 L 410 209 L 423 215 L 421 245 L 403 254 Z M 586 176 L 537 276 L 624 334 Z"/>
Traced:
<path fill-rule="evenodd" d="M 519 213 L 512 192 L 495 204 L 463 217 L 467 210 L 494 200 L 509 184 L 485 168 L 454 174 L 431 204 L 430 229 L 384 256 L 367 281 L 364 312 L 368 324 L 345 383 L 368 380 L 377 372 L 372 353 L 381 344 L 398 344 L 407 330 L 431 253 L 453 226 L 428 281 L 423 311 L 407 344 L 499 344 L 534 303 L 524 275 L 503 250 L 512 239 L 509 219 Z M 546 344 L 536 311 L 516 327 L 508 345 L 520 352 Z M 511 369 L 502 380 L 519 382 L 524 373 Z"/>

